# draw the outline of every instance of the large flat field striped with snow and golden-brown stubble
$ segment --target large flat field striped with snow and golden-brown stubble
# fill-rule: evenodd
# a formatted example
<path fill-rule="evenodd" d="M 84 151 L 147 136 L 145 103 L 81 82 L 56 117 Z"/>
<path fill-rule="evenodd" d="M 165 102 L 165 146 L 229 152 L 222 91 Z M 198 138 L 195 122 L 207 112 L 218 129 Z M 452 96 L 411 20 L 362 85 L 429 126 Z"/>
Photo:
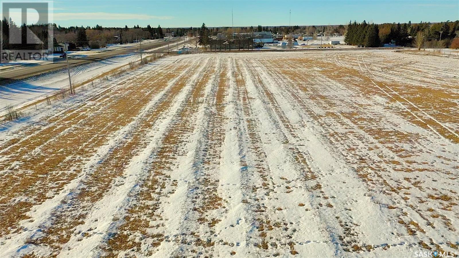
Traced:
<path fill-rule="evenodd" d="M 1 257 L 457 253 L 454 62 L 171 56 L 3 124 Z"/>

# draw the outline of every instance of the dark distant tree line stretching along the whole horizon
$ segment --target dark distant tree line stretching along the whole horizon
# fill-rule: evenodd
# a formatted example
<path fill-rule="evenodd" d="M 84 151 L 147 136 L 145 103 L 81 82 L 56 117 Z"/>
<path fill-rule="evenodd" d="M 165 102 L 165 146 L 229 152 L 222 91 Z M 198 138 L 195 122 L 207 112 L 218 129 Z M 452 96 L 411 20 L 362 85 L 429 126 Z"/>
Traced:
<path fill-rule="evenodd" d="M 197 37 L 198 34 L 203 35 L 203 28 L 161 28 L 160 25 L 152 27 L 140 27 L 139 24 L 129 28 L 127 25 L 121 28 L 102 27 L 95 25 L 94 27 L 70 26 L 61 27 L 52 24 L 54 28 L 54 38 L 56 42 L 71 42 L 78 46 L 91 46 L 92 48 L 105 47 L 107 44 L 125 44 L 133 43 L 136 39 L 162 39 L 166 34 L 174 33 L 175 36 L 188 35 Z M 1 21 L 0 26 L 3 32 L 4 49 L 21 49 L 21 45 L 9 45 L 8 31 L 11 28 L 21 28 L 25 32 L 25 27 L 30 28 L 35 34 L 43 39 L 44 44 L 47 44 L 47 26 L 43 25 L 17 25 L 14 21 Z M 324 34 L 325 37 L 332 35 L 345 35 L 345 42 L 351 45 L 363 46 L 378 46 L 382 44 L 396 44 L 411 46 L 415 45 L 418 34 L 421 35 L 423 46 L 433 47 L 439 44 L 440 31 L 442 31 L 442 45 L 454 47 L 459 44 L 459 21 L 451 22 L 420 22 L 420 23 L 357 23 L 349 22 L 348 25 L 322 25 L 322 26 L 262 26 L 257 27 L 206 27 L 205 34 L 207 37 L 217 36 L 218 34 L 230 35 L 235 33 L 250 33 L 255 31 L 270 31 L 274 34 L 308 34 L 316 37 L 318 34 Z M 23 33 L 25 37 L 25 33 Z M 204 38 L 203 38 L 204 39 Z M 204 44 L 202 44 L 204 45 Z M 39 49 L 41 46 L 37 46 Z"/>

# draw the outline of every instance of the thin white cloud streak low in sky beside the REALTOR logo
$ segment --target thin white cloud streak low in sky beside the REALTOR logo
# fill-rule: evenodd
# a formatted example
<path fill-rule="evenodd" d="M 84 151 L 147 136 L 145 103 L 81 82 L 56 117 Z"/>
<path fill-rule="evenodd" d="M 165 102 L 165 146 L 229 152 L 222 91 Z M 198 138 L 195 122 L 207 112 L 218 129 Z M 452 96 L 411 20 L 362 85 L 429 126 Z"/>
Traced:
<path fill-rule="evenodd" d="M 54 13 L 55 21 L 69 21 L 69 20 L 169 20 L 174 17 L 171 16 L 153 16 L 148 14 L 134 14 L 134 13 L 108 13 L 108 12 L 56 12 Z"/>

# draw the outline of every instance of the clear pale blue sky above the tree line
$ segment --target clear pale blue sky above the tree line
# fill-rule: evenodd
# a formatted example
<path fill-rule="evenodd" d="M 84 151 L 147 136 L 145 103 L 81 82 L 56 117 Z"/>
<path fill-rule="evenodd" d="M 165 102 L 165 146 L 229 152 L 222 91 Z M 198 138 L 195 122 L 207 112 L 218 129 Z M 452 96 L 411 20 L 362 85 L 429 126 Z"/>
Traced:
<path fill-rule="evenodd" d="M 61 26 L 133 27 L 281 26 L 367 22 L 440 22 L 459 19 L 459 0 L 250 0 L 152 1 L 56 0 L 54 22 Z"/>

